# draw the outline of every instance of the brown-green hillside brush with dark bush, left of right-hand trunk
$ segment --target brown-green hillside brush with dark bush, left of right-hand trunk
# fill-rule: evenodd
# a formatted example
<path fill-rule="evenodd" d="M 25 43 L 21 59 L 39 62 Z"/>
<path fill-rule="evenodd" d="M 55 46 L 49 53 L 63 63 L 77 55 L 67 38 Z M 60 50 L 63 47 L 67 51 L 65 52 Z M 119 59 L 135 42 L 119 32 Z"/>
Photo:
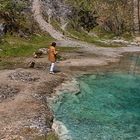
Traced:
<path fill-rule="evenodd" d="M 74 29 L 78 29 L 79 25 L 81 25 L 81 23 L 83 22 L 82 27 L 87 31 L 93 29 L 96 26 L 96 23 L 99 24 L 99 27 L 102 28 L 102 30 L 108 33 L 114 33 L 117 36 L 124 34 L 125 32 L 133 31 L 132 0 L 65 1 L 71 7 L 74 7 L 76 9 L 76 13 L 79 13 L 80 10 L 85 12 L 85 15 L 82 16 L 82 20 L 79 20 L 81 19 L 81 15 L 79 16 L 78 14 L 73 12 L 74 20 L 71 20 L 71 24 Z M 88 19 L 87 17 L 92 18 Z"/>

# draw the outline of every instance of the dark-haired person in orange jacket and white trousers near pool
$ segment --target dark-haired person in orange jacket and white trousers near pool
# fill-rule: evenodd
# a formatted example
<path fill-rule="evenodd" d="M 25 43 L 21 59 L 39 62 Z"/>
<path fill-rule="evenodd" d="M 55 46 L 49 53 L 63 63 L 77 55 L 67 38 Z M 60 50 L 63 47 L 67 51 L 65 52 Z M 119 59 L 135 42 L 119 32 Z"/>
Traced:
<path fill-rule="evenodd" d="M 54 65 L 56 62 L 56 55 L 57 55 L 57 51 L 55 47 L 56 47 L 56 43 L 53 42 L 48 49 L 48 60 L 51 62 L 50 74 L 54 74 Z"/>

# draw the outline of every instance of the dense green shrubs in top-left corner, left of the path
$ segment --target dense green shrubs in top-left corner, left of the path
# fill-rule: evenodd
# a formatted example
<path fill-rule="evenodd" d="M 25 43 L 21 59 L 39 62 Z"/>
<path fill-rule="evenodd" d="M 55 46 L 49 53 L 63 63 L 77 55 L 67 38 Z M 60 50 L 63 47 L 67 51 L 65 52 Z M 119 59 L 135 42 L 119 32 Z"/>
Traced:
<path fill-rule="evenodd" d="M 27 35 L 34 31 L 29 2 L 26 0 L 1 0 L 0 19 L 5 24 L 5 33 L 22 32 L 22 35 Z"/>

